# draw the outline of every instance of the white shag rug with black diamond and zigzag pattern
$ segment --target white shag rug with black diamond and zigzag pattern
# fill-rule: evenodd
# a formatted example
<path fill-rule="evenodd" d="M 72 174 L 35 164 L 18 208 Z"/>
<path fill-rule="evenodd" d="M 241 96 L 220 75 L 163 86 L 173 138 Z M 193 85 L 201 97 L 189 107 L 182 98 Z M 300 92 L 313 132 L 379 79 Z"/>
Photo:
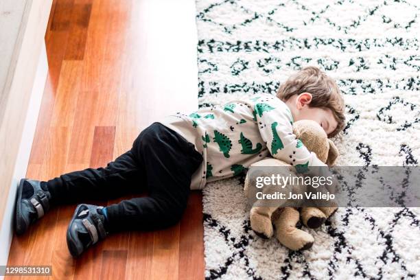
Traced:
<path fill-rule="evenodd" d="M 418 165 L 420 3 L 197 0 L 200 106 L 316 65 L 345 94 L 338 165 Z M 420 209 L 348 208 L 294 253 L 250 230 L 240 178 L 203 191 L 207 279 L 419 279 Z"/>

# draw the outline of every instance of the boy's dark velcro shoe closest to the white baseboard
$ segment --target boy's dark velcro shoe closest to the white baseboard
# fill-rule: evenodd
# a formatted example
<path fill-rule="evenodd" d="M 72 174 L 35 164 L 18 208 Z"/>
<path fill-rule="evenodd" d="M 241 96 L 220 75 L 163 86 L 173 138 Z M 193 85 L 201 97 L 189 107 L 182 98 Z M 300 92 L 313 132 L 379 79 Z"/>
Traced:
<path fill-rule="evenodd" d="M 16 233 L 22 234 L 27 228 L 43 217 L 49 210 L 51 194 L 41 187 L 38 180 L 21 179 L 16 200 Z"/>

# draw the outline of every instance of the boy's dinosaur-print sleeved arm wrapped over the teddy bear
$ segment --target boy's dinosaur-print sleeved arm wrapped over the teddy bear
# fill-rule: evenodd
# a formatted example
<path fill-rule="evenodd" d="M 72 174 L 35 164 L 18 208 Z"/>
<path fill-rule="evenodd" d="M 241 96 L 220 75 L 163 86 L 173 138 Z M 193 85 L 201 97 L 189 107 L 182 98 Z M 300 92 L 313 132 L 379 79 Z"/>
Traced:
<path fill-rule="evenodd" d="M 316 154 L 307 150 L 301 140 L 296 139 L 292 113 L 285 103 L 275 99 L 264 100 L 255 104 L 253 114 L 261 138 L 275 159 L 290 163 L 299 173 L 308 172 L 310 166 L 326 166 Z"/>

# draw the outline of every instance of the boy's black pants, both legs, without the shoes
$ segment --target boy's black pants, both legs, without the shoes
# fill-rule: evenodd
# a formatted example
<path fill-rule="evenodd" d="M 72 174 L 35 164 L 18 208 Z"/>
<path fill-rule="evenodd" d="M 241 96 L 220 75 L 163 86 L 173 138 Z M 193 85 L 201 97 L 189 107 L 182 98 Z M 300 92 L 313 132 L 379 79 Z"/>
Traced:
<path fill-rule="evenodd" d="M 147 191 L 148 196 L 106 207 L 108 230 L 160 229 L 176 224 L 202 163 L 194 145 L 159 123 L 143 130 L 131 150 L 106 167 L 71 172 L 47 182 L 51 202 L 108 199 Z"/>

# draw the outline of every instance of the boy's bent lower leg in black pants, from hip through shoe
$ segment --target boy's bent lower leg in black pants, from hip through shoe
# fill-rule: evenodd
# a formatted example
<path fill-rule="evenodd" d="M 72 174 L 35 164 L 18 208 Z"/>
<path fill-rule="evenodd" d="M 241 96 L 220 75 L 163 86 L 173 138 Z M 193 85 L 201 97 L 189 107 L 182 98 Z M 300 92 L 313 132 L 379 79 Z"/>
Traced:
<path fill-rule="evenodd" d="M 187 206 L 191 176 L 202 163 L 194 145 L 161 124 L 137 137 L 132 154 L 144 168 L 149 195 L 104 209 L 80 205 L 69 224 L 67 244 L 73 256 L 109 232 L 159 229 L 178 222 Z"/>

